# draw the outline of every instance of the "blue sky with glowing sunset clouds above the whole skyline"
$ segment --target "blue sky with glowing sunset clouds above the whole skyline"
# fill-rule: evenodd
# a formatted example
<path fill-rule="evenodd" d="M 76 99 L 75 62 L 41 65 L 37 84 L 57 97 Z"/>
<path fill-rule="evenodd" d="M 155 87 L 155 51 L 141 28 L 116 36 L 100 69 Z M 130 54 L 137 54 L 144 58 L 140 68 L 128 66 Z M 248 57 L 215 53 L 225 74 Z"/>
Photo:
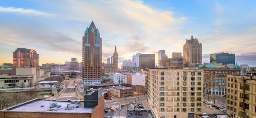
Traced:
<path fill-rule="evenodd" d="M 82 37 L 93 21 L 102 37 L 102 62 L 117 47 L 119 67 L 136 53 L 183 53 L 191 35 L 209 54 L 236 54 L 256 65 L 255 0 L 5 0 L 0 2 L 0 64 L 17 48 L 39 53 L 39 65 L 82 61 Z"/>

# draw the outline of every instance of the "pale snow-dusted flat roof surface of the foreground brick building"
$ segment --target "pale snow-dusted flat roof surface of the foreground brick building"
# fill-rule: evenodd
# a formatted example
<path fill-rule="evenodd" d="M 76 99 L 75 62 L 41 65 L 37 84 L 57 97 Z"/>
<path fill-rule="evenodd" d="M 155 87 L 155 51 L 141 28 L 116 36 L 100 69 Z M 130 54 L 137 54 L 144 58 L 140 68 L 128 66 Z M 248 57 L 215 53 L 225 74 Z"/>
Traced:
<path fill-rule="evenodd" d="M 50 104 L 57 103 L 61 107 L 50 108 Z M 70 104 L 71 109 L 65 110 L 67 104 Z M 43 106 L 43 107 L 41 107 Z M 78 108 L 76 108 L 78 106 Z M 52 111 L 47 111 L 52 109 Z M 24 102 L 22 104 L 15 105 L 13 107 L 6 108 L 2 111 L 4 112 L 62 112 L 62 113 L 92 113 L 94 107 L 84 108 L 84 101 L 81 101 L 80 104 L 71 104 L 71 101 L 49 101 L 41 100 L 41 98 L 35 98 L 31 101 Z M 1 112 L 1 111 L 0 111 Z"/>

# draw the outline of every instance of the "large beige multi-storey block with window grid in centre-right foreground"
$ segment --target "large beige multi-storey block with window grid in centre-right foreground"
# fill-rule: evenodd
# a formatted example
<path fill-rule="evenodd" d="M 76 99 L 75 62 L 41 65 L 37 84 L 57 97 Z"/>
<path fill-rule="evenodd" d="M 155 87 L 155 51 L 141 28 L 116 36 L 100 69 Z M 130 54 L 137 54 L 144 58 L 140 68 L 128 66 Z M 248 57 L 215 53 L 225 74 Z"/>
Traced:
<path fill-rule="evenodd" d="M 201 69 L 148 70 L 148 103 L 156 118 L 195 118 L 203 114 Z"/>

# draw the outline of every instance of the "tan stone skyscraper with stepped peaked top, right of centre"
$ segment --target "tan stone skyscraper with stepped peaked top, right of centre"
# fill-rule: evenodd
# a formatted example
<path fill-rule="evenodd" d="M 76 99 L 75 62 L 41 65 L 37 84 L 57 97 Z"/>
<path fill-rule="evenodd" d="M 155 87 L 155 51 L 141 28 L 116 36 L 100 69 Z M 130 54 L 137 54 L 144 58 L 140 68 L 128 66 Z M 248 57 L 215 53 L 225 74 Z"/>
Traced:
<path fill-rule="evenodd" d="M 198 39 L 186 39 L 185 45 L 183 45 L 183 62 L 184 67 L 198 67 L 202 63 L 202 44 L 198 42 Z"/>

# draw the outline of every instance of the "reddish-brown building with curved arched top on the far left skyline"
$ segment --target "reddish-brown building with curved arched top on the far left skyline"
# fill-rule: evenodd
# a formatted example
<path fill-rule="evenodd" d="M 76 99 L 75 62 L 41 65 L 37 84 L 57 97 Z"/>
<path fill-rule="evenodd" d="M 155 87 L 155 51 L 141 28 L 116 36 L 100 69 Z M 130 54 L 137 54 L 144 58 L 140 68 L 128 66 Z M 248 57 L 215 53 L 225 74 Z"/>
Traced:
<path fill-rule="evenodd" d="M 13 68 L 16 67 L 36 67 L 38 70 L 39 54 L 35 50 L 17 48 L 12 52 Z"/>

